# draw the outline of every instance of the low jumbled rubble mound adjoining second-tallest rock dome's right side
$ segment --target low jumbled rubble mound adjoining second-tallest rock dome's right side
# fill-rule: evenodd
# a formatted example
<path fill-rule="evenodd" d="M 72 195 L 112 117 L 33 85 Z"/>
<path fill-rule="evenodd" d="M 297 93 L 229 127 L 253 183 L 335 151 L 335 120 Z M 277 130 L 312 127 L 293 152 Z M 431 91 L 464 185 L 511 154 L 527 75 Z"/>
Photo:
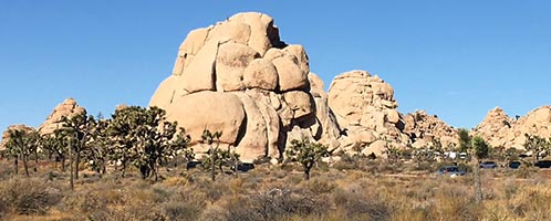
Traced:
<path fill-rule="evenodd" d="M 436 115 L 428 115 L 425 110 L 416 110 L 404 116 L 406 133 L 413 141 L 413 146 L 422 148 L 440 141 L 443 147 L 454 147 L 458 143 L 457 129 L 447 125 Z M 432 144 L 433 143 L 433 144 Z"/>

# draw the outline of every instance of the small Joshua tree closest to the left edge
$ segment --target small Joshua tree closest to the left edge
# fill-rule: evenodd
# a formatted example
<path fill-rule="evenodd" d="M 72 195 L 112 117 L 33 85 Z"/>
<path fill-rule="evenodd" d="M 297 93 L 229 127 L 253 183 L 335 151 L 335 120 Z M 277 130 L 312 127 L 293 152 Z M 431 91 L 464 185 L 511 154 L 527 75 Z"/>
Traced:
<path fill-rule="evenodd" d="M 37 130 L 27 128 L 10 129 L 7 143 L 7 151 L 14 158 L 15 175 L 19 171 L 18 159 L 23 161 L 24 173 L 29 177 L 29 157 L 37 156 L 40 136 Z"/>

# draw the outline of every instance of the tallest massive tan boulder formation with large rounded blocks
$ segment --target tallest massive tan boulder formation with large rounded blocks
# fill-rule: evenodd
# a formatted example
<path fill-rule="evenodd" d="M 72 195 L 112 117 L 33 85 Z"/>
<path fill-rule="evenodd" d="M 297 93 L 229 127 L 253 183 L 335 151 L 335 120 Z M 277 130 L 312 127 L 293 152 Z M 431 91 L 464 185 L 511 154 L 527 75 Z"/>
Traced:
<path fill-rule="evenodd" d="M 280 41 L 272 18 L 238 13 L 189 32 L 149 106 L 166 109 L 193 144 L 209 129 L 222 131 L 220 141 L 246 161 L 279 158 L 290 138 L 336 144 L 339 127 L 320 82 L 304 49 Z"/>

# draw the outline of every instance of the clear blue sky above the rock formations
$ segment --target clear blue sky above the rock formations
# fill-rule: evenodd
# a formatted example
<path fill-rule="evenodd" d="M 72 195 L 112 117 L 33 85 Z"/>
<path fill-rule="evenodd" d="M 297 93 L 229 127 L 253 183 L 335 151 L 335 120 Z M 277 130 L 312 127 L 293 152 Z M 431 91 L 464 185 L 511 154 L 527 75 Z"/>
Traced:
<path fill-rule="evenodd" d="M 0 1 L 0 130 L 40 125 L 65 97 L 90 114 L 147 105 L 187 32 L 240 11 L 276 19 L 325 84 L 378 74 L 403 113 L 474 127 L 551 104 L 551 1 Z"/>

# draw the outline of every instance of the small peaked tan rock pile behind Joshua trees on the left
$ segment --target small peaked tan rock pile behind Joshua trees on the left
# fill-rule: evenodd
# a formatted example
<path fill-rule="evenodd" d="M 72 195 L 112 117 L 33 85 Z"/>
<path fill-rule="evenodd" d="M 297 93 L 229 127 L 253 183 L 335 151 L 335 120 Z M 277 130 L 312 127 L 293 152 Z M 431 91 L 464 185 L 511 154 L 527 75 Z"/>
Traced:
<path fill-rule="evenodd" d="M 39 133 L 41 135 L 52 134 L 55 129 L 59 129 L 63 126 L 61 122 L 62 117 L 71 118 L 74 115 L 86 113 L 84 107 L 79 106 L 74 98 L 66 98 L 63 103 L 59 104 L 46 118 L 46 120 L 40 125 Z"/>

